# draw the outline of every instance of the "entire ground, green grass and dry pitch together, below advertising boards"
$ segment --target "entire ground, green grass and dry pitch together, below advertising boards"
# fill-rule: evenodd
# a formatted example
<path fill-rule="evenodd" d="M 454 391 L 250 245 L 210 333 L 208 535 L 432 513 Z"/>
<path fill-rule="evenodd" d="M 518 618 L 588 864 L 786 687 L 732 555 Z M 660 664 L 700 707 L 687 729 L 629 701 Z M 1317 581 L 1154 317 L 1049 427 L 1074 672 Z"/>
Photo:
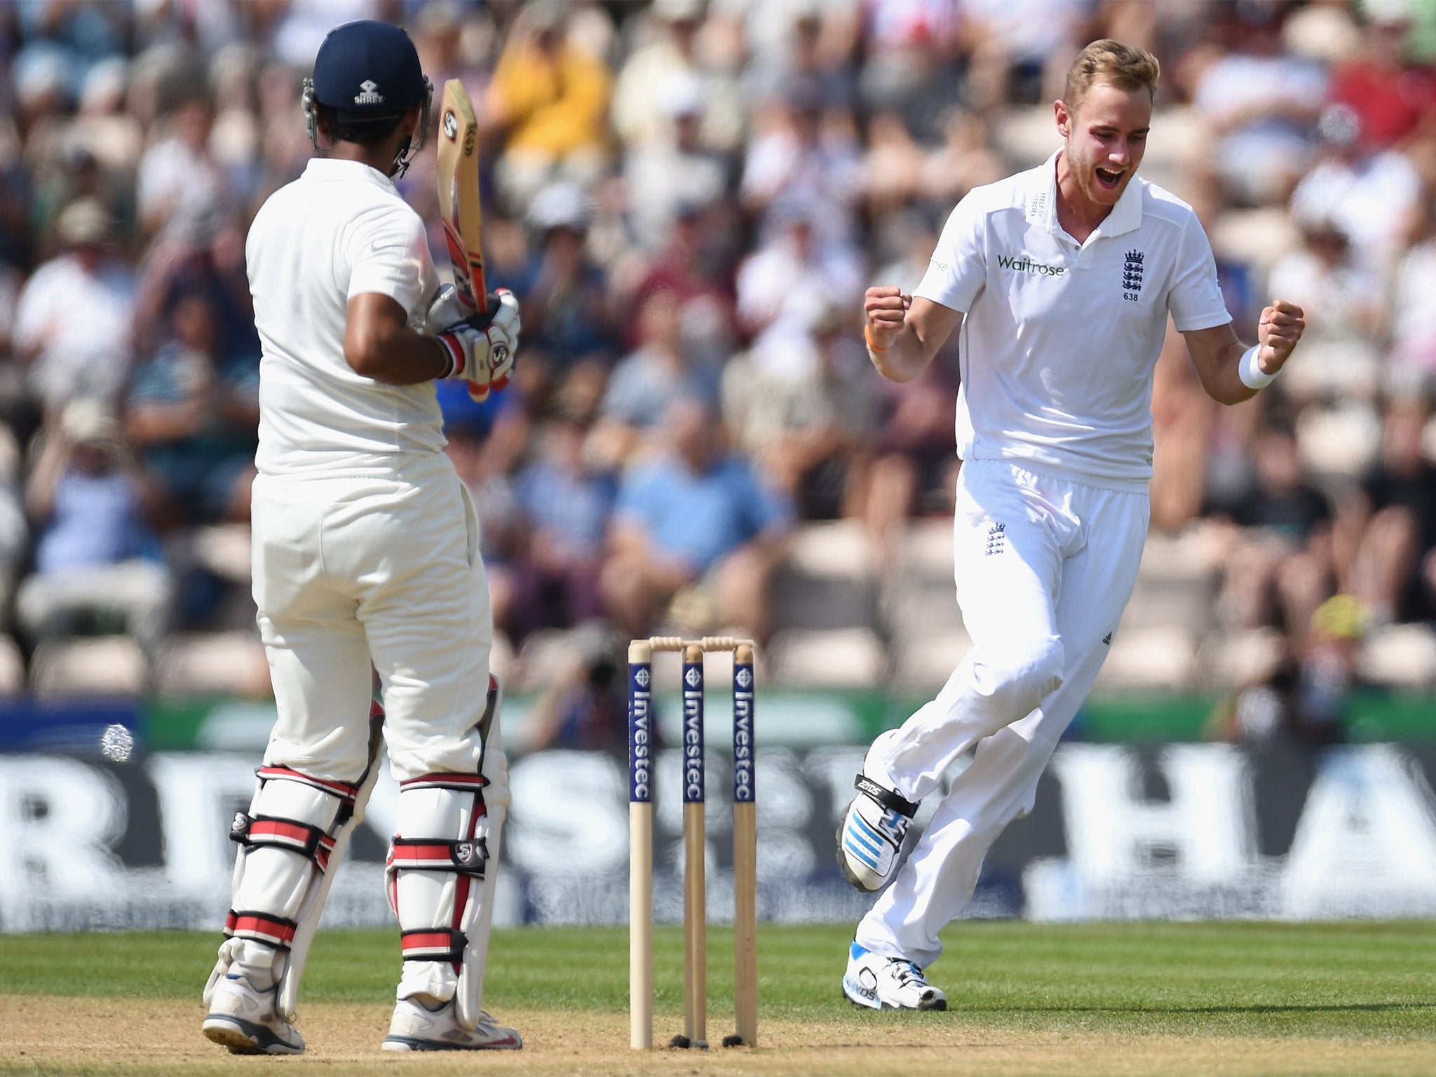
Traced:
<path fill-rule="evenodd" d="M 843 928 L 767 928 L 761 1045 L 628 1050 L 622 931 L 503 932 L 491 1008 L 520 1053 L 382 1055 L 388 932 L 320 936 L 300 1058 L 238 1058 L 198 1031 L 202 935 L 0 936 L 0 1073 L 73 1074 L 1436 1074 L 1436 923 L 961 925 L 933 966 L 952 1010 L 837 998 Z M 711 936 L 709 1035 L 731 1024 L 731 936 Z M 661 932 L 656 1038 L 681 1024 Z"/>

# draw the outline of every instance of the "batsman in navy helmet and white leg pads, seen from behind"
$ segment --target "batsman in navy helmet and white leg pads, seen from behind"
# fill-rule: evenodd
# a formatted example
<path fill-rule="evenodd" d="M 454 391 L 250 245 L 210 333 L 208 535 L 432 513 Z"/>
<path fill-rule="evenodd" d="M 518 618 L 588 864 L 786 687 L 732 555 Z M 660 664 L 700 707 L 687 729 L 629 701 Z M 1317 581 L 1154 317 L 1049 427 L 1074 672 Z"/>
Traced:
<path fill-rule="evenodd" d="M 500 292 L 460 320 L 393 187 L 431 99 L 402 30 L 333 30 L 303 98 L 322 157 L 246 246 L 263 343 L 254 600 L 279 721 L 230 833 L 233 905 L 204 989 L 204 1034 L 241 1054 L 304 1050 L 304 956 L 375 781 L 370 663 L 401 790 L 386 889 L 404 972 L 383 1050 L 523 1044 L 481 1008 L 508 780 L 478 523 L 434 392 L 503 386 L 518 304 Z"/>

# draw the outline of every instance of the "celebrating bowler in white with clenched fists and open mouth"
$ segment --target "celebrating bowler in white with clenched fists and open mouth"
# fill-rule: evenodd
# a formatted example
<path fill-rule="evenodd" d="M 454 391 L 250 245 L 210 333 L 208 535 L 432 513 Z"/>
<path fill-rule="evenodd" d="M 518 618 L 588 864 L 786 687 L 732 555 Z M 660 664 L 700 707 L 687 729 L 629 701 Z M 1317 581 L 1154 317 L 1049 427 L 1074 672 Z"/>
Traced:
<path fill-rule="evenodd" d="M 872 287 L 869 355 L 916 378 L 962 327 L 954 563 L 972 649 L 938 698 L 882 734 L 839 829 L 860 890 L 843 992 L 859 1005 L 945 1010 L 923 976 L 988 847 L 1032 807 L 1037 778 L 1101 668 L 1147 533 L 1152 376 L 1167 314 L 1206 393 L 1238 404 L 1301 339 L 1302 312 L 1232 332 L 1212 248 L 1186 202 L 1137 178 L 1157 62 L 1093 42 L 1055 102 L 1063 146 L 978 187 L 952 211 L 912 296 Z M 918 803 L 969 750 L 912 856 Z"/>

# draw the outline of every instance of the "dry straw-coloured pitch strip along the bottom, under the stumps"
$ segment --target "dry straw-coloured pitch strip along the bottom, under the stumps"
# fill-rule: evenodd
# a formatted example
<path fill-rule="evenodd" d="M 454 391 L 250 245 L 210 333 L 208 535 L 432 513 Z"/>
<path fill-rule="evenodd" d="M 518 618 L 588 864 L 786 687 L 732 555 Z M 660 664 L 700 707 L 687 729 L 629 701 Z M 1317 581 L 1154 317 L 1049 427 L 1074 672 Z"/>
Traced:
<path fill-rule="evenodd" d="M 757 1050 L 635 1053 L 622 1014 L 507 1014 L 523 1051 L 485 1055 L 381 1055 L 388 1025 L 381 1005 L 314 1004 L 302 1058 L 225 1055 L 198 1031 L 192 1002 L 0 998 L 0 1071 L 73 1074 L 1429 1074 L 1430 1043 L 1314 1038 L 1173 1037 L 1028 1032 L 948 1021 L 923 1028 L 770 1022 Z M 98 1030 L 98 1031 L 96 1031 Z M 281 1068 L 276 1068 L 281 1067 Z"/>

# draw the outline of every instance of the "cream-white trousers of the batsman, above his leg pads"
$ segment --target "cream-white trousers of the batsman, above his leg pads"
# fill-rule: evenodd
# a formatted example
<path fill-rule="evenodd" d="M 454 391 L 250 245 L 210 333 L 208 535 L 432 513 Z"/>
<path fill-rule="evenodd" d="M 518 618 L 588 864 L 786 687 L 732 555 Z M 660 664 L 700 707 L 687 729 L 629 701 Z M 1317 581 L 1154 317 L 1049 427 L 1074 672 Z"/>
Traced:
<path fill-rule="evenodd" d="M 254 603 L 279 721 L 266 765 L 358 781 L 369 663 L 399 781 L 478 771 L 493 615 L 478 520 L 448 457 L 392 474 L 254 480 Z"/>

